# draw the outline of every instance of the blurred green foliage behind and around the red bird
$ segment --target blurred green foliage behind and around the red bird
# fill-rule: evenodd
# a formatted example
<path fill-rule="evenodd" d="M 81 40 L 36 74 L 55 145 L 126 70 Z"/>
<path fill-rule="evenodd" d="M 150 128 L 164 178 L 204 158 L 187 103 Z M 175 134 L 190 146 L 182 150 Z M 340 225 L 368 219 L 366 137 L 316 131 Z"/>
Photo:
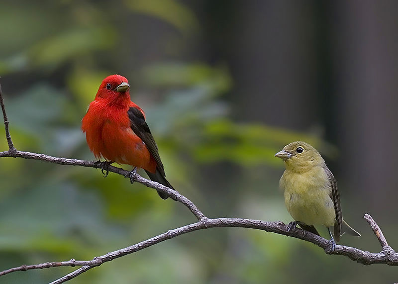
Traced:
<path fill-rule="evenodd" d="M 274 154 L 294 140 L 329 157 L 336 149 L 311 133 L 232 121 L 223 95 L 233 80 L 225 64 L 170 56 L 129 65 L 135 58 L 128 56 L 137 55 L 133 42 L 140 40 L 129 32 L 134 17 L 175 29 L 162 35 L 171 41 L 201 29 L 194 11 L 177 0 L 2 3 L 0 34 L 7 40 L 0 45 L 0 74 L 9 82 L 2 87 L 15 146 L 92 160 L 81 118 L 101 80 L 120 73 L 131 78 L 133 100 L 146 111 L 168 179 L 181 193 L 208 216 L 289 221 L 275 178 L 282 163 Z M 7 149 L 5 139 L 0 146 Z M 0 180 L 0 270 L 89 260 L 195 221 L 184 206 L 161 200 L 154 190 L 112 174 L 103 179 L 93 169 L 3 158 Z M 313 270 L 330 264 L 302 242 L 225 228 L 164 242 L 74 283 L 284 283 L 290 279 L 286 271 L 296 266 L 291 255 L 301 246 L 318 259 L 309 264 Z M 71 270 L 13 273 L 4 281 L 45 283 Z"/>

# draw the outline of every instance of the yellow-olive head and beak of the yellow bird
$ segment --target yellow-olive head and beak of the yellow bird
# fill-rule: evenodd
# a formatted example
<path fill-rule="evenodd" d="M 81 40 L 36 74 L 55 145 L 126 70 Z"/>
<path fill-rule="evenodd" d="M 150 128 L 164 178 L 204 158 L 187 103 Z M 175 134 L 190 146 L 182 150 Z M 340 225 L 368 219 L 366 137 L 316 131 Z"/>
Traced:
<path fill-rule="evenodd" d="M 276 153 L 275 157 L 285 162 L 287 170 L 306 172 L 314 166 L 323 166 L 325 161 L 314 147 L 302 141 L 292 142 L 283 150 Z"/>

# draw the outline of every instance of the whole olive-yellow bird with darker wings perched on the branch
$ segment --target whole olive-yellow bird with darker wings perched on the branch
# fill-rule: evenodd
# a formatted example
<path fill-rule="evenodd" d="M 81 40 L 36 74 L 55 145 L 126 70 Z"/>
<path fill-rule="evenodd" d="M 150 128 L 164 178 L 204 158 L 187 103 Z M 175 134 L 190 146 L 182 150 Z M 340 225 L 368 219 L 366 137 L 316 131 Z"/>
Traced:
<path fill-rule="evenodd" d="M 319 235 L 314 225 L 326 226 L 333 249 L 334 239 L 339 241 L 344 232 L 361 236 L 343 220 L 336 180 L 314 147 L 301 141 L 292 142 L 275 157 L 281 158 L 286 167 L 279 185 L 285 191 L 286 207 L 296 220 L 289 224 L 289 230 L 298 224 Z M 334 239 L 331 227 L 334 227 Z"/>

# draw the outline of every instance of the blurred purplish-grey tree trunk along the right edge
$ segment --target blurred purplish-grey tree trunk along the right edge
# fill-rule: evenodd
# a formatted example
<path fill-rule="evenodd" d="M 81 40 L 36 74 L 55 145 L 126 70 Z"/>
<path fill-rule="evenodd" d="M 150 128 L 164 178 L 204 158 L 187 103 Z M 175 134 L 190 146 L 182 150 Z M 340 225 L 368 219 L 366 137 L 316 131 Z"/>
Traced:
<path fill-rule="evenodd" d="M 397 1 L 339 1 L 332 22 L 341 172 L 349 191 L 371 196 L 364 212 L 385 215 L 398 199 L 397 11 Z"/>

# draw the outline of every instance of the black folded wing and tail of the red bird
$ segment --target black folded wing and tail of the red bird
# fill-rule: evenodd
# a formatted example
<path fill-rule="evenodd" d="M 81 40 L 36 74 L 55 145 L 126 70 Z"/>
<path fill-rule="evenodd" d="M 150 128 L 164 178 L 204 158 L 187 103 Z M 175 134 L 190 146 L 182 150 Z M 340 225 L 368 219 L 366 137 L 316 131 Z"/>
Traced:
<path fill-rule="evenodd" d="M 166 174 L 163 168 L 162 161 L 160 160 L 158 146 L 156 145 L 151 130 L 149 129 L 149 126 L 145 121 L 144 114 L 139 108 L 130 107 L 127 111 L 127 115 L 130 119 L 131 129 L 145 143 L 149 153 L 151 153 L 152 157 L 156 161 L 156 173 L 151 173 L 145 170 L 145 172 L 148 174 L 148 177 L 154 182 L 158 182 L 159 184 L 162 184 L 170 189 L 174 189 L 166 180 Z M 167 195 L 165 195 L 164 193 L 159 191 L 158 193 L 163 199 L 167 198 Z"/>

